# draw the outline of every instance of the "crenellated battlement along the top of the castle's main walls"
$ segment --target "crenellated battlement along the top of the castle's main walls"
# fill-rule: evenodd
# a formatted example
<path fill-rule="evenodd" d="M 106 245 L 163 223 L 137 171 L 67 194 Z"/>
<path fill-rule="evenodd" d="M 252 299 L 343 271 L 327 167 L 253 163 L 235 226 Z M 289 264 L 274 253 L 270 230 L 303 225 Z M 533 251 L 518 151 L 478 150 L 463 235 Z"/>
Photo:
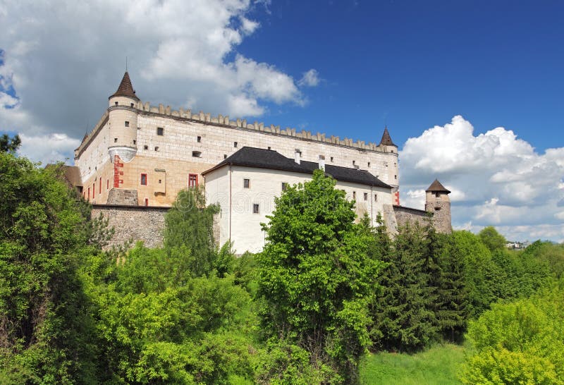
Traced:
<path fill-rule="evenodd" d="M 338 136 L 331 135 L 326 136 L 324 133 L 314 133 L 312 134 L 309 130 L 296 130 L 295 128 L 280 128 L 280 126 L 274 126 L 271 124 L 270 126 L 265 125 L 262 122 L 255 121 L 253 123 L 248 123 L 246 119 L 231 119 L 228 115 L 221 115 L 212 116 L 212 114 L 204 113 L 202 111 L 198 112 L 197 114 L 192 113 L 191 109 L 183 109 L 180 107 L 178 110 L 171 109 L 171 106 L 164 106 L 163 104 L 159 104 L 159 106 L 152 106 L 149 102 L 137 102 L 135 108 L 141 114 L 154 114 L 160 116 L 166 116 L 173 119 L 183 120 L 183 121 L 193 121 L 202 124 L 212 124 L 212 125 L 220 125 L 223 127 L 228 128 L 236 128 L 236 129 L 243 129 L 243 130 L 254 130 L 260 131 L 262 133 L 269 133 L 274 135 L 285 135 L 292 138 L 298 138 L 300 140 L 313 140 L 317 142 L 324 142 L 330 145 L 337 145 L 343 147 L 352 147 L 355 149 L 359 149 L 360 151 L 376 151 L 376 152 L 386 152 L 385 146 L 379 146 L 374 142 L 364 142 L 363 140 L 354 141 L 350 138 L 339 138 Z M 94 126 L 94 130 L 82 140 L 80 146 L 75 149 L 75 158 L 80 157 L 82 151 L 87 147 L 90 140 L 97 135 L 97 132 L 104 126 L 105 121 L 108 118 L 108 111 L 102 116 L 100 121 Z"/>

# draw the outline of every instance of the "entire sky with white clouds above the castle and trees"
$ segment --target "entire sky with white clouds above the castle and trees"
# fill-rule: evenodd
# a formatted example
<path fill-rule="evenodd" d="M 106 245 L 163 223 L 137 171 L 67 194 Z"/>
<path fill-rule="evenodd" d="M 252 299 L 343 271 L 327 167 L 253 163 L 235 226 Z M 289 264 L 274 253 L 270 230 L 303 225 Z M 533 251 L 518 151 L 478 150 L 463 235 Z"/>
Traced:
<path fill-rule="evenodd" d="M 400 147 L 402 204 L 564 241 L 562 1 L 11 0 L 0 131 L 68 159 L 123 75 L 138 96 Z"/>

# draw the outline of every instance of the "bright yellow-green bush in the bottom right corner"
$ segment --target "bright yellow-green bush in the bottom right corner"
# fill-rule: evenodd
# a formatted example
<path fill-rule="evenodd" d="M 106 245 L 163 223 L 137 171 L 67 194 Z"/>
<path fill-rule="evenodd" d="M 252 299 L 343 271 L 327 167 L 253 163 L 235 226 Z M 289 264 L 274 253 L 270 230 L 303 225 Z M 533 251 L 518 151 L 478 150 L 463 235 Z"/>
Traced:
<path fill-rule="evenodd" d="M 465 384 L 564 384 L 564 281 L 531 298 L 498 302 L 470 323 L 476 353 Z"/>

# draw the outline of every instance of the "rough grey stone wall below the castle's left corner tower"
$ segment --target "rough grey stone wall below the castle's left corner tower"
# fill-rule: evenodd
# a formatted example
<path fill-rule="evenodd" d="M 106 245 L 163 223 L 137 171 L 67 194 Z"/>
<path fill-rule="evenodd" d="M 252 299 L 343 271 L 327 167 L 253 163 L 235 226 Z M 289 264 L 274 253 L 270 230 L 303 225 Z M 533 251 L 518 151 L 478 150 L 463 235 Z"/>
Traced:
<path fill-rule="evenodd" d="M 127 240 L 142 240 L 147 247 L 162 245 L 166 212 L 168 207 L 92 205 L 92 218 L 102 213 L 109 219 L 109 226 L 114 227 L 114 238 L 109 247 L 122 245 Z"/>

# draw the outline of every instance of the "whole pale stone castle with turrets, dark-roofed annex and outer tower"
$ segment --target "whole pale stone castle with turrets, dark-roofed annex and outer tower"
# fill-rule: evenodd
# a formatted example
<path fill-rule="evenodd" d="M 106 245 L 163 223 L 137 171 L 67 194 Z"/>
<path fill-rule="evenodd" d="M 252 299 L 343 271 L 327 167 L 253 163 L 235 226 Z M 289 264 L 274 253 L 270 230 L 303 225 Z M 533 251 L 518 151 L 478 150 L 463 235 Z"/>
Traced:
<path fill-rule="evenodd" d="M 82 196 L 112 212 L 166 209 L 178 191 L 203 184 L 207 204 L 221 207 L 219 243 L 231 240 L 237 252 L 256 252 L 264 245 L 259 224 L 274 209 L 274 197 L 288 183 L 307 181 L 314 169 L 336 179 L 336 187 L 356 201 L 358 216 L 368 213 L 376 224 L 383 214 L 391 233 L 426 211 L 434 213 L 436 228 L 450 232 L 450 191 L 438 181 L 427 189 L 426 211 L 400 206 L 398 147 L 387 128 L 379 144 L 353 142 L 151 106 L 137 97 L 127 72 L 102 118 L 75 149 L 72 172 Z"/>

